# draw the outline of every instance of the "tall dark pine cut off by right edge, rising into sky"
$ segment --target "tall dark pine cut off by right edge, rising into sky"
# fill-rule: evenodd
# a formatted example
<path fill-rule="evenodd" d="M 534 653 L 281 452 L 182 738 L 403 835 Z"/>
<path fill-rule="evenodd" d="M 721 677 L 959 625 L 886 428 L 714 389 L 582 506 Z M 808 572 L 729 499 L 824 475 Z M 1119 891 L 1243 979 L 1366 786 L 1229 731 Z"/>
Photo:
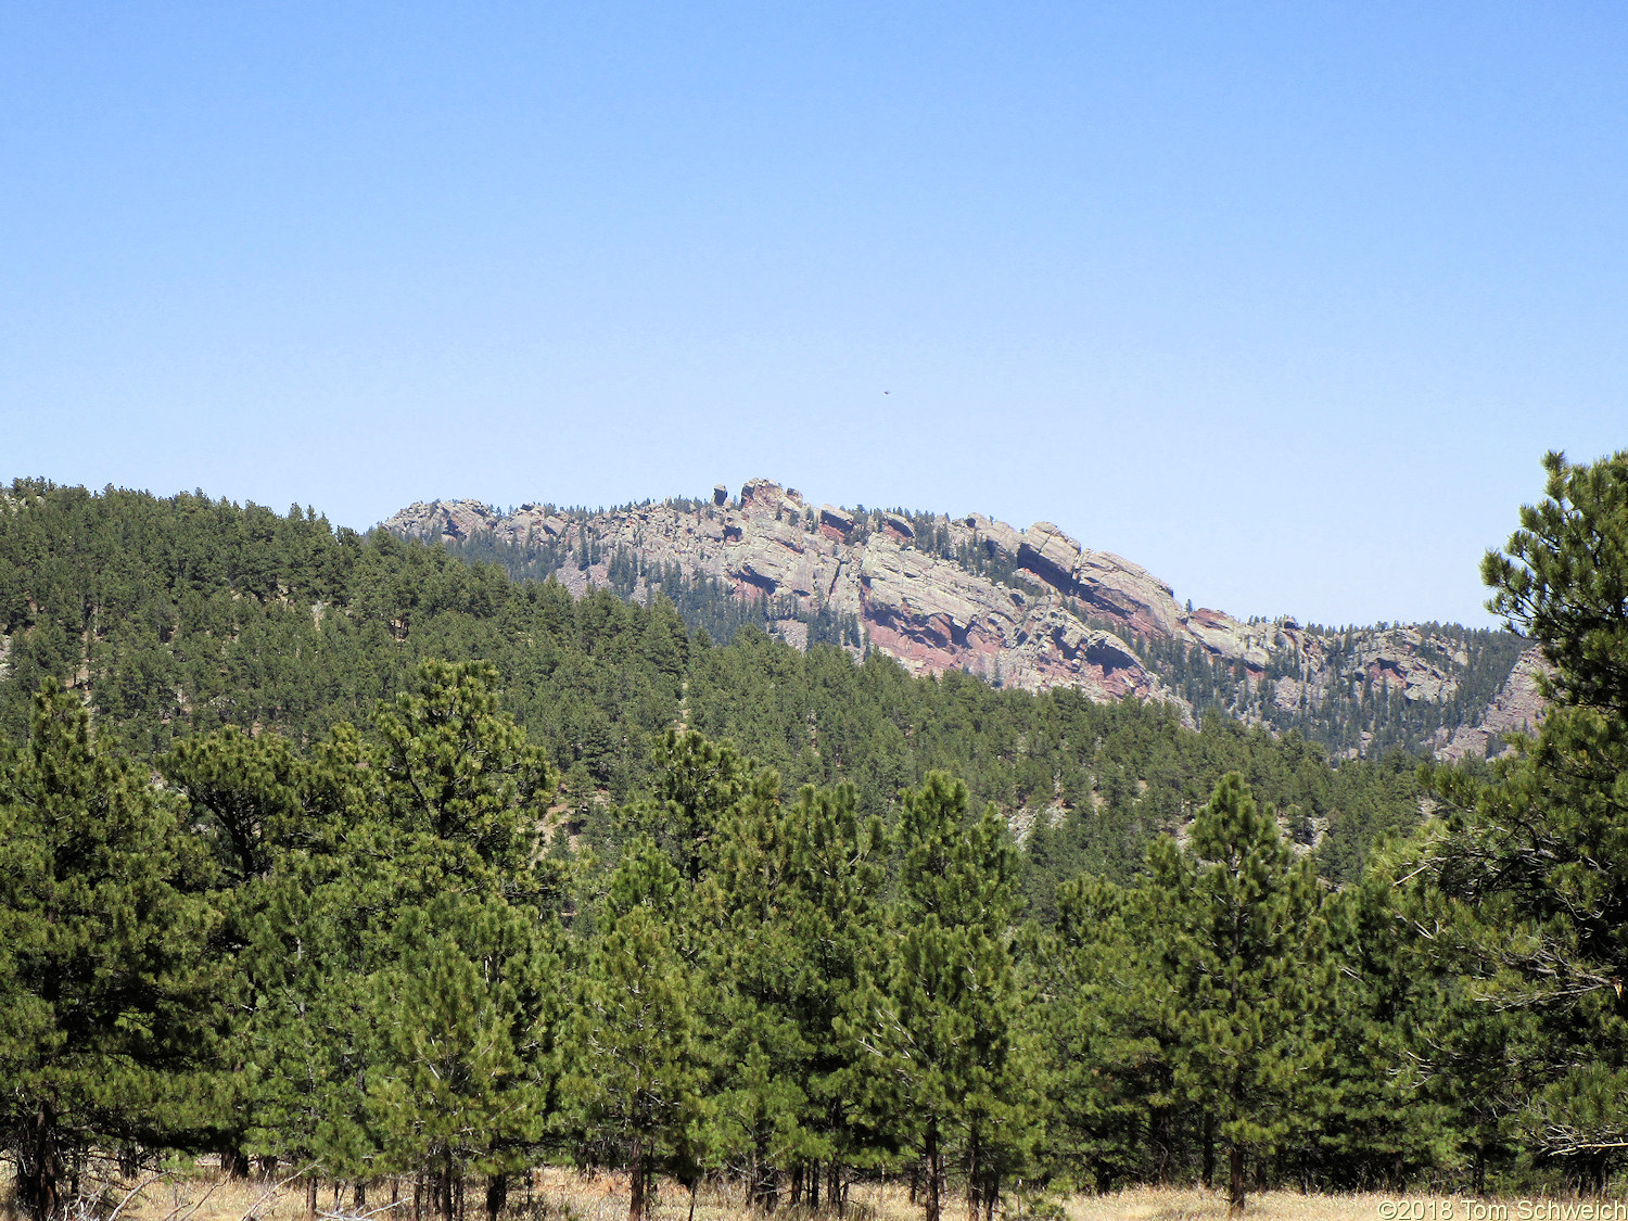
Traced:
<path fill-rule="evenodd" d="M 1490 780 L 1431 777 L 1431 864 L 1499 1027 L 1509 1135 L 1599 1190 L 1628 1148 L 1628 451 L 1545 467 L 1548 498 L 1481 571 L 1555 666 L 1551 705 Z"/>

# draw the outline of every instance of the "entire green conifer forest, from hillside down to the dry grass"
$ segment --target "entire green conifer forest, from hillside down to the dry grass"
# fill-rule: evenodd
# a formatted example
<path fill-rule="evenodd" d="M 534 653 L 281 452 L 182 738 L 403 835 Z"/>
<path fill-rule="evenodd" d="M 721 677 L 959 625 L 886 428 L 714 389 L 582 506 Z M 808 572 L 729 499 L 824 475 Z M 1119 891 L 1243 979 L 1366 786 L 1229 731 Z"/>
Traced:
<path fill-rule="evenodd" d="M 630 1221 L 715 1179 L 834 1216 L 887 1179 L 925 1221 L 1127 1184 L 1605 1192 L 1628 453 L 1547 470 L 1483 562 L 1547 715 L 1457 765 L 20 480 L 13 1206 L 204 1154 L 444 1221 L 545 1164 L 625 1174 Z"/>

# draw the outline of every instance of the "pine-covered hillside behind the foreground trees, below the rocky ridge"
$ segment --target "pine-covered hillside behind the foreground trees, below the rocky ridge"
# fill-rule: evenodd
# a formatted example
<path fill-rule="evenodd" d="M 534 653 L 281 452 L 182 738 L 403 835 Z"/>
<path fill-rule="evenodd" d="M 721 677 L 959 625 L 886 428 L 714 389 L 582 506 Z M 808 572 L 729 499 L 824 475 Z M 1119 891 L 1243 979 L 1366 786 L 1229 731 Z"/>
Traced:
<path fill-rule="evenodd" d="M 1315 746 L 1228 718 L 1195 734 L 1156 703 L 996 690 L 956 671 L 917 679 L 752 624 L 720 646 L 664 597 L 573 599 L 300 508 L 16 484 L 0 514 L 0 731 L 23 736 L 50 676 L 143 752 L 226 724 L 308 744 L 365 723 L 422 658 L 485 659 L 591 837 L 610 834 L 606 803 L 648 785 L 651 749 L 681 720 L 778 768 L 788 791 L 853 783 L 866 816 L 928 770 L 954 772 L 1032 835 L 1042 877 L 1130 876 L 1151 837 L 1234 768 L 1337 877 L 1418 814 L 1400 759 L 1330 768 Z"/>

